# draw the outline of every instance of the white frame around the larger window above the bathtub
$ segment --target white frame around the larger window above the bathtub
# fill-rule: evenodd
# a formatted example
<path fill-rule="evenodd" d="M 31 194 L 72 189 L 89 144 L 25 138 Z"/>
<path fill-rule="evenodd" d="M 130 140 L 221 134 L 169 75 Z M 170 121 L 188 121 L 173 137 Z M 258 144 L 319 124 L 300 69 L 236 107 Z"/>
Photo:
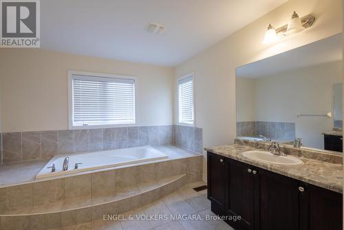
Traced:
<path fill-rule="evenodd" d="M 111 125 L 74 125 L 73 124 L 73 88 L 72 80 L 73 75 L 87 76 L 87 78 L 92 77 L 102 77 L 104 79 L 126 79 L 134 81 L 135 90 L 135 123 L 128 124 L 111 124 Z M 136 76 L 127 76 L 120 74 L 105 74 L 105 73 L 94 73 L 94 72 L 82 72 L 82 71 L 68 71 L 68 129 L 101 129 L 101 128 L 111 128 L 111 127 L 133 127 L 138 125 L 138 78 Z"/>

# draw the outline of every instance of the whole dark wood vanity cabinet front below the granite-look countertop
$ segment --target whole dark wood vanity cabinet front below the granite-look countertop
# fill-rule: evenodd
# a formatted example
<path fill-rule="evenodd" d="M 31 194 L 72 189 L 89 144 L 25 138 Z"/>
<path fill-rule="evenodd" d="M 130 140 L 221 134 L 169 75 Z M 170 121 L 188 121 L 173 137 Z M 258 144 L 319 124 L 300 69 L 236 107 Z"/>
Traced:
<path fill-rule="evenodd" d="M 342 229 L 342 194 L 208 152 L 211 210 L 235 230 Z"/>

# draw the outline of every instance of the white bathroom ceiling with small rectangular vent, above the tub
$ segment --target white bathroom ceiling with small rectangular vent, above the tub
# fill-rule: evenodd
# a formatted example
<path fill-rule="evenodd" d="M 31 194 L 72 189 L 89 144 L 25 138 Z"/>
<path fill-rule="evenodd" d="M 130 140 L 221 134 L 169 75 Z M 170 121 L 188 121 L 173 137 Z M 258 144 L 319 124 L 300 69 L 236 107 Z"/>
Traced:
<path fill-rule="evenodd" d="M 287 0 L 42 0 L 41 47 L 178 65 Z M 149 22 L 167 25 L 149 34 Z"/>

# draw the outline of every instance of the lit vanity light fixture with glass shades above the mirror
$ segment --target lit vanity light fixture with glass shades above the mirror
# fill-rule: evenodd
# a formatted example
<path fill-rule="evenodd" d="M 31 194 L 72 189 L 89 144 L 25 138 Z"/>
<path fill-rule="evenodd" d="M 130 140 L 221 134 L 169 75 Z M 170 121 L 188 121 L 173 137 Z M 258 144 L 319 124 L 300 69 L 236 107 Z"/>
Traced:
<path fill-rule="evenodd" d="M 290 19 L 287 25 L 283 25 L 280 28 L 275 28 L 269 24 L 268 30 L 265 32 L 263 44 L 272 44 L 283 39 L 283 37 L 291 34 L 296 34 L 311 27 L 314 24 L 315 17 L 312 14 L 308 14 L 305 17 L 300 18 L 297 12 L 294 11 L 292 19 Z"/>

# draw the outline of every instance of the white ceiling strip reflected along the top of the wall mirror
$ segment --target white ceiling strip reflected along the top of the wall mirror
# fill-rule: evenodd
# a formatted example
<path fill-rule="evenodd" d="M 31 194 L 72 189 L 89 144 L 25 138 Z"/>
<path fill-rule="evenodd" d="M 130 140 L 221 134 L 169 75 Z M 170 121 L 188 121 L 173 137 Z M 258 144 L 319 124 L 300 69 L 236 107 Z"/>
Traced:
<path fill-rule="evenodd" d="M 300 48 L 271 56 L 237 68 L 237 77 L 259 79 L 301 67 L 320 65 L 342 59 L 342 35 L 316 41 Z"/>

